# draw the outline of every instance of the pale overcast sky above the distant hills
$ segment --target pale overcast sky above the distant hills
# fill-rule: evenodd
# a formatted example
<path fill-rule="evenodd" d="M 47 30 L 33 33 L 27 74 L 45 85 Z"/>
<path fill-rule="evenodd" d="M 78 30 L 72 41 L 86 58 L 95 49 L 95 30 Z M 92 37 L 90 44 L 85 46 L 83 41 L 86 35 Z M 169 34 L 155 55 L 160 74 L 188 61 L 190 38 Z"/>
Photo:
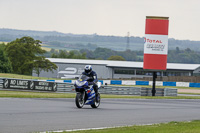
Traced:
<path fill-rule="evenodd" d="M 146 16 L 169 38 L 200 41 L 200 0 L 0 0 L 0 28 L 144 37 Z"/>

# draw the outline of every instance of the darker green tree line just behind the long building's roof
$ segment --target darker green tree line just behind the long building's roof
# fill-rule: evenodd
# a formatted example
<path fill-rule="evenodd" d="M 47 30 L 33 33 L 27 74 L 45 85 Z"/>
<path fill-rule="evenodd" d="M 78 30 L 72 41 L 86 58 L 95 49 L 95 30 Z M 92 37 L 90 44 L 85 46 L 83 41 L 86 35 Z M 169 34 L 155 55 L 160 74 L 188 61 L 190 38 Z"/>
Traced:
<path fill-rule="evenodd" d="M 143 61 L 143 51 L 115 51 L 108 48 L 96 48 L 95 50 L 51 50 L 47 57 L 51 58 L 73 58 L 73 59 L 98 59 L 98 60 L 121 60 L 121 61 Z M 176 47 L 168 51 L 168 63 L 200 64 L 200 52 L 186 48 L 180 50 Z"/>

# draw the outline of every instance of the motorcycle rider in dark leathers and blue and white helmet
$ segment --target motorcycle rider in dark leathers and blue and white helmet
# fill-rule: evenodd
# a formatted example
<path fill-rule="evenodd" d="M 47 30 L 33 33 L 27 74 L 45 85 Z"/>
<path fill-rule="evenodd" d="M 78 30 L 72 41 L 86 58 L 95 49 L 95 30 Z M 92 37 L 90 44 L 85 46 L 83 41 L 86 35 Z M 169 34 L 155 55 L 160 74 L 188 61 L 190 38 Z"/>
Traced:
<path fill-rule="evenodd" d="M 89 81 L 90 85 L 93 85 L 95 94 L 98 94 L 98 86 L 97 86 L 97 74 L 95 71 L 92 71 L 92 66 L 91 65 L 86 65 L 84 68 L 84 72 L 82 73 L 83 75 L 86 75 L 88 77 L 91 78 L 91 80 Z"/>

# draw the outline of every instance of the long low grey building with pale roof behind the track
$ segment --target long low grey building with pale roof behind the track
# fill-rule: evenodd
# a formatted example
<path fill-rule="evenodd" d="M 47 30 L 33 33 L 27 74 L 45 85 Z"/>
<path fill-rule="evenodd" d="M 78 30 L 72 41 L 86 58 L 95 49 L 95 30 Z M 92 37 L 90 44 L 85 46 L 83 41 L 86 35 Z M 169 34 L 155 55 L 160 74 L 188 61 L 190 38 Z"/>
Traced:
<path fill-rule="evenodd" d="M 143 78 L 152 76 L 152 71 L 143 70 L 143 62 L 86 60 L 86 59 L 60 59 L 47 58 L 58 66 L 52 72 L 40 73 L 40 77 L 49 78 L 75 78 L 84 70 L 84 66 L 92 65 L 93 70 L 100 79 Z M 166 71 L 158 71 L 158 76 L 200 76 L 200 64 L 167 63 Z M 33 76 L 37 74 L 33 73 Z"/>

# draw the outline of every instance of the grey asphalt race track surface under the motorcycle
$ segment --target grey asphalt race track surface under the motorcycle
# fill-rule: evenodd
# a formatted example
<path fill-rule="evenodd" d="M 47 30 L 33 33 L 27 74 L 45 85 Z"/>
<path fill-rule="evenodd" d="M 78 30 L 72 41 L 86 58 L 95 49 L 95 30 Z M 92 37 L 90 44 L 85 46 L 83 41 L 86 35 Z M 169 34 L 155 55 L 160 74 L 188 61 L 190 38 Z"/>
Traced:
<path fill-rule="evenodd" d="M 0 98 L 0 133 L 190 120 L 200 120 L 200 100 L 102 99 L 98 109 L 78 109 L 74 99 Z"/>

